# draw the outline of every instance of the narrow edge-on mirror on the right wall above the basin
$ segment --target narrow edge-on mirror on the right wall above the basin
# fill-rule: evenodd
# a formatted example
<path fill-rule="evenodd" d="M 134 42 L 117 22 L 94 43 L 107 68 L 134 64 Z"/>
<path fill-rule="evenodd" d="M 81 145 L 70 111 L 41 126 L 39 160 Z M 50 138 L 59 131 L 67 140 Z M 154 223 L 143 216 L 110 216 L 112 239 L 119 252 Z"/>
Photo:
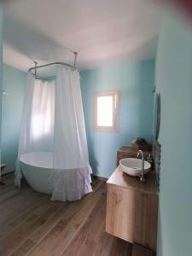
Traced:
<path fill-rule="evenodd" d="M 154 99 L 154 138 L 157 141 L 160 133 L 160 93 Z"/>

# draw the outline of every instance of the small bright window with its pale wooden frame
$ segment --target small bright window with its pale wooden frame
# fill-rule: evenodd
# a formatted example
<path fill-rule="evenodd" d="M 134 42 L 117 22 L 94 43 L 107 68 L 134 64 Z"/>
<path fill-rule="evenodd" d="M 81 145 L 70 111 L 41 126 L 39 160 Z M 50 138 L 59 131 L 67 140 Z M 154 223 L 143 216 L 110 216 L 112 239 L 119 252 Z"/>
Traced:
<path fill-rule="evenodd" d="M 94 130 L 118 131 L 119 92 L 102 91 L 94 95 Z"/>

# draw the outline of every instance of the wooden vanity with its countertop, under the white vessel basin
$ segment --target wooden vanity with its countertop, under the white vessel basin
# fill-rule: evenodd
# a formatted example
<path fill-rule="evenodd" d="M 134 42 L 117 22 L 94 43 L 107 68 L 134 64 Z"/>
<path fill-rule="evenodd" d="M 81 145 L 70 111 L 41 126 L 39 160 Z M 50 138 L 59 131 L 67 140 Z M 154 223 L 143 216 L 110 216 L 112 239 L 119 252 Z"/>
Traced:
<path fill-rule="evenodd" d="M 158 194 L 154 174 L 148 173 L 141 183 L 118 166 L 107 184 L 106 231 L 155 251 Z"/>

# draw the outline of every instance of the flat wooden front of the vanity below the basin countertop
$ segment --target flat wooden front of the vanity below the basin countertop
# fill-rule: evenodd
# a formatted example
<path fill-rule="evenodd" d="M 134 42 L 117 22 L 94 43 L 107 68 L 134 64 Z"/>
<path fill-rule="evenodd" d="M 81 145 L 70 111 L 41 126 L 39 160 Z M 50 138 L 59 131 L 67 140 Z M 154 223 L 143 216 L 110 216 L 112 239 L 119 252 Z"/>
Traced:
<path fill-rule="evenodd" d="M 106 231 L 155 250 L 157 195 L 108 184 Z"/>

